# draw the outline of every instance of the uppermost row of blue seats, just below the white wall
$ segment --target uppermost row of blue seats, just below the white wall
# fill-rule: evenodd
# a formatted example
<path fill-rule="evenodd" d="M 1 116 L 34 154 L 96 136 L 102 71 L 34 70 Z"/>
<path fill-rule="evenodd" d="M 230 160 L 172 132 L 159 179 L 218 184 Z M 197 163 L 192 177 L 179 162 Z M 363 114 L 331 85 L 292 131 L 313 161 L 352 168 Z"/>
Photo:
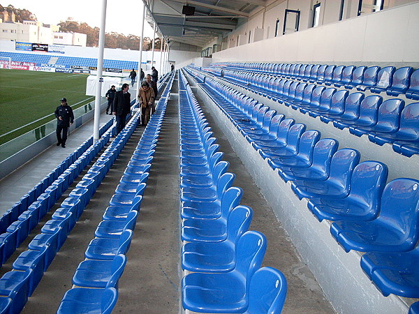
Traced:
<path fill-rule="evenodd" d="M 286 79 L 318 82 L 318 84 L 357 88 L 373 93 L 385 91 L 389 96 L 406 94 L 407 98 L 419 100 L 419 70 L 411 66 L 396 69 L 394 66 L 335 66 L 300 63 L 212 63 L 210 67 L 202 68 L 213 74 L 223 76 L 226 70 L 244 71 L 246 79 L 253 73 L 266 74 Z"/>

